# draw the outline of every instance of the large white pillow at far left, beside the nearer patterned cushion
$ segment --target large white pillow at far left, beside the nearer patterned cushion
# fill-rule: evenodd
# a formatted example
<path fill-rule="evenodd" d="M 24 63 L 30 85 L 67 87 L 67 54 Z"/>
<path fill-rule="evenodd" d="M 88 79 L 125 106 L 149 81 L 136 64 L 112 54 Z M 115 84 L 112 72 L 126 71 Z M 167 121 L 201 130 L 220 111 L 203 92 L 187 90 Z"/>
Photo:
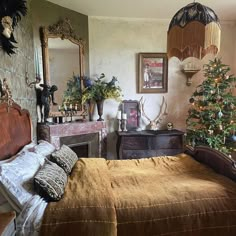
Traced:
<path fill-rule="evenodd" d="M 16 211 L 22 209 L 27 201 L 36 194 L 33 178 L 45 162 L 45 157 L 34 152 L 22 152 L 16 158 L 0 166 L 0 183 L 4 197 L 14 203 Z"/>

